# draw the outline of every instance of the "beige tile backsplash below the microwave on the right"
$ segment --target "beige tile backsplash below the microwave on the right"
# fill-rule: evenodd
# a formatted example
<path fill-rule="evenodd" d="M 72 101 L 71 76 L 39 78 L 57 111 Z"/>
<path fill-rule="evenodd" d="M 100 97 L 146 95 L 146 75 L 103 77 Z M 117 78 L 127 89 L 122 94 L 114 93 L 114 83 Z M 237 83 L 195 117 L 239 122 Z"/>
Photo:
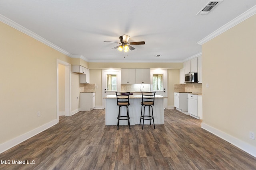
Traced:
<path fill-rule="evenodd" d="M 202 93 L 202 83 L 174 84 L 174 92 Z"/>

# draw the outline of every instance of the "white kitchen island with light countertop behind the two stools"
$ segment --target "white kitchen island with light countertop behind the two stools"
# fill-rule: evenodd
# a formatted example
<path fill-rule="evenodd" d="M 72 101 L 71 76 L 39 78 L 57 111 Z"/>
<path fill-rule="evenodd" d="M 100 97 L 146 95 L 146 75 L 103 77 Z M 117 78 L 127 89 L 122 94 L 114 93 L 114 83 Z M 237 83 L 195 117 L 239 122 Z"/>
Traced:
<path fill-rule="evenodd" d="M 155 95 L 155 102 L 153 106 L 154 113 L 154 122 L 155 125 L 164 124 L 164 98 L 160 95 Z M 117 116 L 118 109 L 116 102 L 116 95 L 108 95 L 104 97 L 106 102 L 106 113 L 105 113 L 105 121 L 106 125 L 117 125 Z M 140 113 L 141 113 L 141 103 L 142 95 L 130 95 L 130 106 L 129 107 L 129 116 L 130 116 L 130 125 L 140 124 Z M 145 115 L 148 115 L 148 107 L 145 109 Z M 126 108 L 121 107 L 120 115 L 126 115 Z M 144 120 L 145 125 L 149 125 L 149 120 Z M 151 121 L 153 124 L 153 121 Z M 128 121 L 119 121 L 119 125 L 128 125 Z"/>

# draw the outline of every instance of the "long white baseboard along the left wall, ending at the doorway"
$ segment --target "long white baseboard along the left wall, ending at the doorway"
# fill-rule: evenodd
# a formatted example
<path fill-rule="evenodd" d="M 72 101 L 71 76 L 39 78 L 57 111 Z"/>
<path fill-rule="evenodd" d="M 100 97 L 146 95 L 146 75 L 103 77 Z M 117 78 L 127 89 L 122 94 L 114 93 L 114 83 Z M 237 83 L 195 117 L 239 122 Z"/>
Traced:
<path fill-rule="evenodd" d="M 49 123 L 46 123 L 36 129 L 33 129 L 32 131 L 25 133 L 23 135 L 20 135 L 19 137 L 16 137 L 10 141 L 7 141 L 6 143 L 0 144 L 0 153 L 22 143 L 23 141 L 26 141 L 27 139 L 37 135 L 38 133 L 52 127 L 53 125 L 56 125 L 58 123 L 58 120 L 55 119 L 53 121 L 50 121 Z"/>

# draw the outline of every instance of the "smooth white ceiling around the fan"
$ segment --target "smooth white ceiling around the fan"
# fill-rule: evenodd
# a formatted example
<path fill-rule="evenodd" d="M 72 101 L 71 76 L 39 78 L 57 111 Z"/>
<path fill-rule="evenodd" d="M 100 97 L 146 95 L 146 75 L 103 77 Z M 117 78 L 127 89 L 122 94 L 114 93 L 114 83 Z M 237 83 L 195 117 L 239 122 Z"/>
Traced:
<path fill-rule="evenodd" d="M 223 0 L 208 15 L 196 15 L 209 1 L 0 0 L 0 14 L 89 62 L 178 62 L 202 52 L 198 41 L 256 5 Z M 120 42 L 123 34 L 145 45 L 123 53 L 103 42 Z"/>

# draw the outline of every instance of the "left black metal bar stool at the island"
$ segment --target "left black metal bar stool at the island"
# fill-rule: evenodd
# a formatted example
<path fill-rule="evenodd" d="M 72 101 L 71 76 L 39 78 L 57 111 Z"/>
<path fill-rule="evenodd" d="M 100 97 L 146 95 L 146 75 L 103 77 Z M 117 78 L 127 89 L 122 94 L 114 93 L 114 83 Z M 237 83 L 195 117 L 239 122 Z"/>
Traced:
<path fill-rule="evenodd" d="M 117 121 L 117 130 L 119 129 L 119 120 L 128 120 L 129 129 L 131 129 L 129 110 L 128 110 L 128 106 L 130 105 L 129 97 L 130 97 L 130 92 L 126 92 L 126 93 L 116 92 L 117 106 L 119 106 L 118 117 L 117 117 L 117 119 L 118 119 L 118 121 Z M 120 116 L 120 108 L 122 106 L 126 107 L 127 116 Z"/>

